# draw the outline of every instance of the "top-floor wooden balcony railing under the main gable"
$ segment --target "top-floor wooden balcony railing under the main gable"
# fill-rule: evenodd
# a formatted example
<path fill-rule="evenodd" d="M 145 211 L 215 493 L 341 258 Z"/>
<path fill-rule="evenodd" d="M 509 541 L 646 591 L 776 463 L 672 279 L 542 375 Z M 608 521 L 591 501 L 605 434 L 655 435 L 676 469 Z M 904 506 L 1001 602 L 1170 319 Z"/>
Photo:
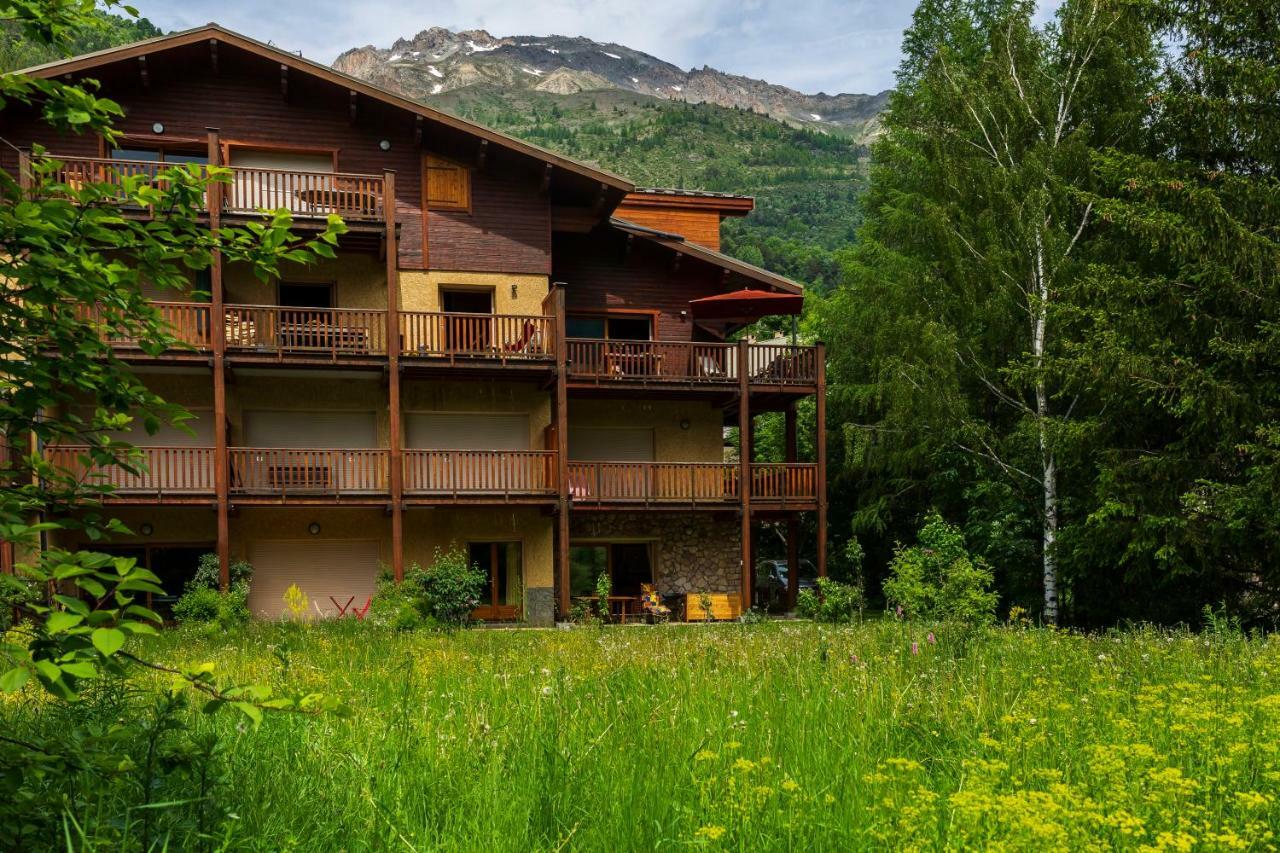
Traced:
<path fill-rule="evenodd" d="M 73 188 L 87 183 L 123 187 L 125 178 L 136 175 L 155 181 L 159 173 L 180 165 L 110 158 L 51 159 L 61 164 L 54 179 Z M 232 167 L 230 172 L 230 182 L 224 184 L 223 192 L 223 210 L 227 213 L 253 214 L 284 207 L 300 216 L 338 214 L 347 222 L 383 222 L 381 175 L 239 167 Z"/>

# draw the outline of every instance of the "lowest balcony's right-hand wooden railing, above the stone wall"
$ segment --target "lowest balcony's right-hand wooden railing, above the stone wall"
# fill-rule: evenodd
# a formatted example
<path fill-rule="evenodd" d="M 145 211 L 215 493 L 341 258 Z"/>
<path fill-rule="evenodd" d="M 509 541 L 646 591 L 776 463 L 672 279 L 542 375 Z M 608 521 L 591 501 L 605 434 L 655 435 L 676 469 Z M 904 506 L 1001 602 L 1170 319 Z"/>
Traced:
<path fill-rule="evenodd" d="M 741 469 L 732 462 L 570 462 L 576 505 L 735 506 Z M 751 503 L 801 508 L 817 501 L 813 464 L 751 465 Z"/>

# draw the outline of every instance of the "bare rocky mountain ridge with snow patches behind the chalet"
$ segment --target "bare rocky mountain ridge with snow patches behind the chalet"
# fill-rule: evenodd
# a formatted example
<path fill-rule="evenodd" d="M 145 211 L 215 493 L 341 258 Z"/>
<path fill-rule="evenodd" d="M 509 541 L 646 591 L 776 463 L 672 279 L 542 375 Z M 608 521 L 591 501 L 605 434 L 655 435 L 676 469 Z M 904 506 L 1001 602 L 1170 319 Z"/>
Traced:
<path fill-rule="evenodd" d="M 768 115 L 797 127 L 847 133 L 865 141 L 887 92 L 805 95 L 786 86 L 727 74 L 708 65 L 682 70 L 614 42 L 568 36 L 509 36 L 443 27 L 399 38 L 390 47 L 355 47 L 333 67 L 355 77 L 426 99 L 472 86 L 553 95 L 620 90 L 666 101 L 714 104 Z"/>

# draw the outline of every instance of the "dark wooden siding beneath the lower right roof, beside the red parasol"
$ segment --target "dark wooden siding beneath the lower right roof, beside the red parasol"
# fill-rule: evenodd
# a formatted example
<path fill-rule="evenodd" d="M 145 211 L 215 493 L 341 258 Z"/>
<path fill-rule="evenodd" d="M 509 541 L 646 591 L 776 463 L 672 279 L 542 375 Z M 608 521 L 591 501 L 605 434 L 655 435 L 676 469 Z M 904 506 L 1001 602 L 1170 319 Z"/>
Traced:
<path fill-rule="evenodd" d="M 645 240 L 632 240 L 618 232 L 557 234 L 556 268 L 552 277 L 566 282 L 566 310 L 599 313 L 607 310 L 657 311 L 654 338 L 691 341 L 694 325 L 687 316 L 689 301 L 714 296 L 726 289 L 723 273 L 709 264 L 684 257 L 673 269 L 675 254 Z M 730 282 L 728 287 L 741 286 Z M 686 316 L 680 313 L 685 311 Z"/>

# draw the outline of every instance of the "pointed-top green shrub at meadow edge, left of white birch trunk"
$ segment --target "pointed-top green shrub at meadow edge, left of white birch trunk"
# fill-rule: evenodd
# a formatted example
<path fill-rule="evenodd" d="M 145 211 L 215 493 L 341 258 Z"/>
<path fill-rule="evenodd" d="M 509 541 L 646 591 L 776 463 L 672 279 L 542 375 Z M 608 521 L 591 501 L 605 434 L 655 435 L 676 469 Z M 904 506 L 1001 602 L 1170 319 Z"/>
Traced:
<path fill-rule="evenodd" d="M 987 564 L 965 548 L 964 534 L 933 512 L 919 544 L 895 552 L 884 597 L 913 619 L 986 624 L 996 617 L 993 583 Z"/>

